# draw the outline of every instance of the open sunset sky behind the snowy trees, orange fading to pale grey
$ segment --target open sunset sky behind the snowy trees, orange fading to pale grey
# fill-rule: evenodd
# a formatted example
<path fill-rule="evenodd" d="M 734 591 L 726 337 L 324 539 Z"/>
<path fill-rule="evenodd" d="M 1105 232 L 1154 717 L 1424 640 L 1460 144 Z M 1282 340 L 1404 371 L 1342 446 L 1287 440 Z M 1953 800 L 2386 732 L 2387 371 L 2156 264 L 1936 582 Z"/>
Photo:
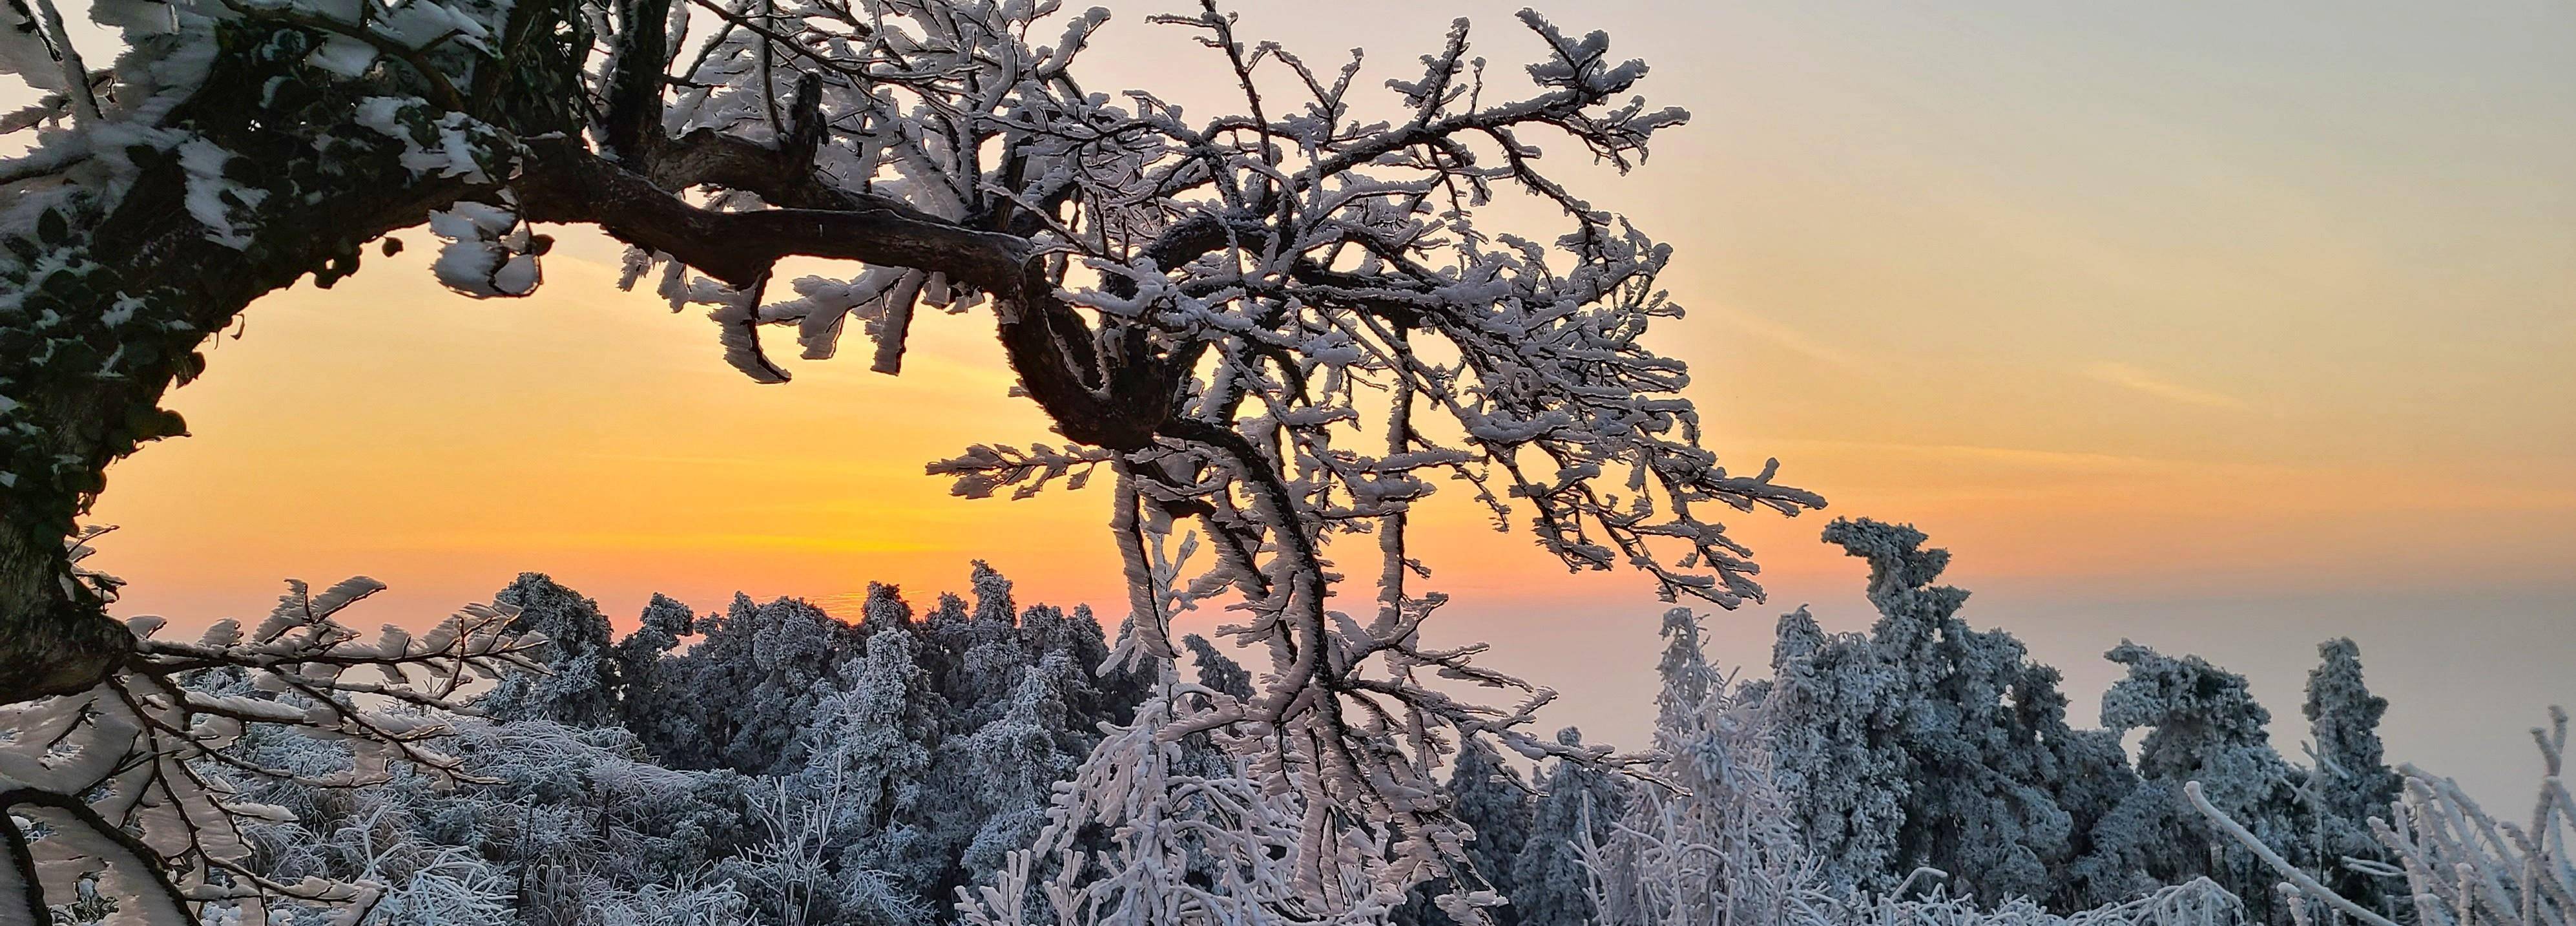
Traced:
<path fill-rule="evenodd" d="M 1244 21 L 1311 59 L 1365 44 L 1394 77 L 1450 15 L 1476 15 L 1497 64 L 1528 57 L 1510 8 Z M 1213 83 L 1139 13 L 1118 8 L 1092 85 Z M 2107 678 L 2094 655 L 2133 635 L 2249 668 L 2295 717 L 2324 632 L 2409 678 L 2391 722 L 2421 748 L 2576 702 L 2566 5 L 1556 15 L 1610 28 L 1656 64 L 1654 101 L 1698 113 L 1628 178 L 1577 173 L 1674 242 L 1692 315 L 1656 340 L 1695 364 L 1721 457 L 1780 457 L 1826 516 L 1932 531 L 1973 614 L 2066 665 L 2079 704 Z M 1023 601 L 1118 601 L 1100 493 L 953 500 L 920 472 L 1048 438 L 1005 395 L 989 317 L 922 320 L 904 377 L 788 361 L 793 384 L 760 387 L 698 312 L 613 291 L 595 235 L 567 232 L 515 302 L 440 291 L 433 240 L 404 237 L 340 289 L 252 307 L 170 400 L 196 436 L 111 469 L 95 521 L 124 529 L 93 562 L 134 580 L 121 611 L 191 624 L 263 611 L 289 575 L 366 573 L 394 586 L 371 619 L 428 619 L 546 570 L 631 622 L 652 591 L 714 609 L 737 588 L 961 588 L 969 557 Z M 1437 498 L 1425 526 L 1453 627 L 1595 699 L 1569 717 L 1631 725 L 1646 583 L 1566 578 L 1463 503 Z M 1734 524 L 1775 604 L 1726 619 L 1728 660 L 1762 663 L 1788 604 L 1865 622 L 1821 526 Z M 2494 655 L 2445 650 L 2463 635 Z M 2445 733 L 2488 702 L 2527 712 Z"/>

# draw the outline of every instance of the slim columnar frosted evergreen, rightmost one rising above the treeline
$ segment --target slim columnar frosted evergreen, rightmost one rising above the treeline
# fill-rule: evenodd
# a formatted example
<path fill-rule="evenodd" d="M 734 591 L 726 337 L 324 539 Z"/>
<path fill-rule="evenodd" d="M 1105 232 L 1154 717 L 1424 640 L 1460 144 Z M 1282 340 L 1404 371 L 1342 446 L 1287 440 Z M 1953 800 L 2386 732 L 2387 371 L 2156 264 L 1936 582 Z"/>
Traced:
<path fill-rule="evenodd" d="M 2370 694 L 2362 684 L 2362 647 L 2352 637 L 2334 637 L 2316 645 L 2321 663 L 2308 673 L 2308 740 L 2316 769 L 2308 789 L 2316 805 L 2313 856 L 2324 867 L 2326 887 L 2362 903 L 2383 905 L 2388 880 L 2344 867 L 2342 859 L 2383 862 L 2388 849 L 2370 833 L 2370 818 L 2393 820 L 2391 805 L 2403 794 L 2406 779 L 2388 769 L 2380 745 L 2380 717 L 2388 699 Z"/>

